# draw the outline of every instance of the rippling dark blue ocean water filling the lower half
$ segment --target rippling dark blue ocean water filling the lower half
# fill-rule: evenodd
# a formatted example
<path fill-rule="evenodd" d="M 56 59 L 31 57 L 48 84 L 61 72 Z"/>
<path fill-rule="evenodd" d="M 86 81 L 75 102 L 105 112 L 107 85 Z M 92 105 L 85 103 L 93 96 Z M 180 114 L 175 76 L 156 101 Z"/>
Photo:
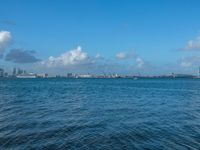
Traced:
<path fill-rule="evenodd" d="M 200 80 L 1 79 L 0 149 L 200 149 Z"/>

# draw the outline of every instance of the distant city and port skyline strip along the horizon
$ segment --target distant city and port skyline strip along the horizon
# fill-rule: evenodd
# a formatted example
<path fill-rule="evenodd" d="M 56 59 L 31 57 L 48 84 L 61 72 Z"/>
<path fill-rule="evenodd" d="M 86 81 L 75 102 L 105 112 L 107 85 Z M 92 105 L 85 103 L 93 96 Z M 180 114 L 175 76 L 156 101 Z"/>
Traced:
<path fill-rule="evenodd" d="M 200 78 L 200 67 L 198 70 L 197 75 L 191 74 L 160 74 L 160 75 L 141 75 L 138 74 L 117 74 L 117 73 L 104 73 L 104 74 L 81 74 L 81 73 L 72 73 L 67 72 L 64 75 L 56 74 L 52 76 L 48 73 L 34 73 L 34 72 L 27 72 L 21 68 L 13 68 L 12 73 L 6 72 L 4 69 L 0 68 L 0 78 L 131 78 L 131 79 L 156 79 L 156 78 L 184 78 L 184 79 L 199 79 Z"/>

